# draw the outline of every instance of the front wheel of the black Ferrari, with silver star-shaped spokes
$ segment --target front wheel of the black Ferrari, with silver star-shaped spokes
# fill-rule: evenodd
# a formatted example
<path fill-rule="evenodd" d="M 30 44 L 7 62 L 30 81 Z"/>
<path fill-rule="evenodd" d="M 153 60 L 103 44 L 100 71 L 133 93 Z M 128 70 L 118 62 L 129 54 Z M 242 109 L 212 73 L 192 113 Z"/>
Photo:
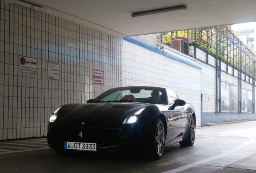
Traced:
<path fill-rule="evenodd" d="M 158 119 L 155 124 L 152 140 L 151 158 L 160 159 L 165 149 L 165 127 L 162 119 Z"/>

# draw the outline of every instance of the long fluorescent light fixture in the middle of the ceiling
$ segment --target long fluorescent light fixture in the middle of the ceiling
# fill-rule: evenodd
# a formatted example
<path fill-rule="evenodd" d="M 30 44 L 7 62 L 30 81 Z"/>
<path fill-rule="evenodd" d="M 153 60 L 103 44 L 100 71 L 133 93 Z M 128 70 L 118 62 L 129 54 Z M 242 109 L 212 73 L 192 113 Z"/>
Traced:
<path fill-rule="evenodd" d="M 132 13 L 132 17 L 138 17 L 138 16 L 145 16 L 149 14 L 157 14 L 157 13 L 163 13 L 163 12 L 170 12 L 170 11 L 175 11 L 175 10 L 186 10 L 187 7 L 184 6 L 175 6 L 175 7 L 169 7 L 169 8 L 162 8 L 158 10 L 150 10 L 150 11 L 145 11 L 145 12 L 135 12 Z"/>

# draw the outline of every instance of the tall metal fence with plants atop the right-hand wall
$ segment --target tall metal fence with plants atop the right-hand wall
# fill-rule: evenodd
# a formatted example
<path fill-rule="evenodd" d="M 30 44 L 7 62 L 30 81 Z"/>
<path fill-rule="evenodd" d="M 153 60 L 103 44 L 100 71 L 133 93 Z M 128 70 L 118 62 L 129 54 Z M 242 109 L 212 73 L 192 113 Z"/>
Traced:
<path fill-rule="evenodd" d="M 215 58 L 232 66 L 233 69 L 240 70 L 255 79 L 255 53 L 239 40 L 230 27 L 216 26 L 161 33 L 159 34 L 158 42 L 160 40 L 163 44 L 172 46 L 172 39 L 184 38 L 189 41 L 190 45 L 204 49 L 206 54 L 212 54 Z"/>

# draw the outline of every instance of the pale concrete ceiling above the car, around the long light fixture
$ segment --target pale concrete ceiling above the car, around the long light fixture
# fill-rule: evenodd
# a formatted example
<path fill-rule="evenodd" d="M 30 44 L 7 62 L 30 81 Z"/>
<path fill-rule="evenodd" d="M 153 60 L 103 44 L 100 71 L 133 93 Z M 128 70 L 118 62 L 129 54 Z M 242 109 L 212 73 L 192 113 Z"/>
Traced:
<path fill-rule="evenodd" d="M 255 0 L 27 0 L 43 12 L 114 36 L 135 36 L 256 21 Z M 186 10 L 132 18 L 134 12 Z"/>

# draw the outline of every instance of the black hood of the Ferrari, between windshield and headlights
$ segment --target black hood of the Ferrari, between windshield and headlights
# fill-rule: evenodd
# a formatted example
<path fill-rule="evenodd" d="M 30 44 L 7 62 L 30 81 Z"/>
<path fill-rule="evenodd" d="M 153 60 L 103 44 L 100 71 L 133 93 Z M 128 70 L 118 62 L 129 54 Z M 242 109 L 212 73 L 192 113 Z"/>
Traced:
<path fill-rule="evenodd" d="M 148 105 L 116 102 L 68 104 L 59 109 L 57 119 L 61 126 L 120 125 L 126 117 Z"/>

